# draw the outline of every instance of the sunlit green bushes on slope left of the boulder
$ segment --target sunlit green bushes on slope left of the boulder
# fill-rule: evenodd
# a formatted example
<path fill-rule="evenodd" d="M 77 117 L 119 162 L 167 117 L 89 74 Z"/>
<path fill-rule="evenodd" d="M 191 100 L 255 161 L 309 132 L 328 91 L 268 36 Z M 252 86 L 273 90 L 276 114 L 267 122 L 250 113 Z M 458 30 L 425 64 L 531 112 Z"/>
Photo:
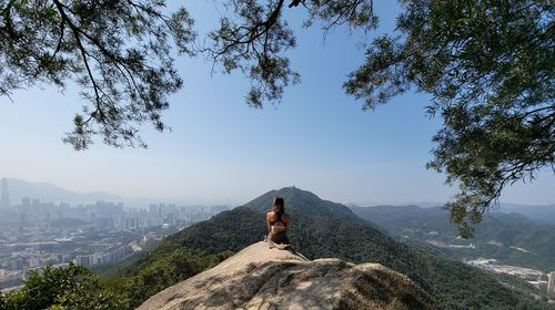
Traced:
<path fill-rule="evenodd" d="M 22 289 L 0 296 L 0 310 L 134 309 L 157 292 L 214 267 L 232 254 L 208 254 L 162 242 L 121 272 L 100 278 L 82 266 L 47 266 L 31 271 Z"/>

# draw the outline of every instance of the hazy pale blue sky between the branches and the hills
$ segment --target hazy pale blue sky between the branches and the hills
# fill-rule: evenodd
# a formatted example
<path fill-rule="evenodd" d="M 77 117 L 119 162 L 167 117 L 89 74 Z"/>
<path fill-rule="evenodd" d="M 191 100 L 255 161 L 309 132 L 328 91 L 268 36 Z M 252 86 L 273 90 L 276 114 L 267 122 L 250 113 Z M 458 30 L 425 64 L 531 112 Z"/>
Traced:
<path fill-rule="evenodd" d="M 202 38 L 219 17 L 216 2 L 186 2 Z M 392 2 L 376 2 L 382 28 L 371 37 L 393 28 L 397 8 L 384 7 Z M 303 11 L 285 14 L 299 23 Z M 363 112 L 341 89 L 363 61 L 362 37 L 336 30 L 324 42 L 317 27 L 296 34 L 299 48 L 290 54 L 302 83 L 263 110 L 244 104 L 249 83 L 240 74 L 211 75 L 202 55 L 180 59 L 185 86 L 164 114 L 172 132 L 145 126 L 149 149 L 99 142 L 74 152 L 63 144 L 83 104 L 75 86 L 19 91 L 14 103 L 0 97 L 0 176 L 176 203 L 241 204 L 291 185 L 340 203 L 448 199 L 454 189 L 444 176 L 424 167 L 441 125 L 424 114 L 428 97 L 411 93 Z M 503 202 L 553 204 L 554 188 L 547 170 L 532 185 L 507 188 Z"/>

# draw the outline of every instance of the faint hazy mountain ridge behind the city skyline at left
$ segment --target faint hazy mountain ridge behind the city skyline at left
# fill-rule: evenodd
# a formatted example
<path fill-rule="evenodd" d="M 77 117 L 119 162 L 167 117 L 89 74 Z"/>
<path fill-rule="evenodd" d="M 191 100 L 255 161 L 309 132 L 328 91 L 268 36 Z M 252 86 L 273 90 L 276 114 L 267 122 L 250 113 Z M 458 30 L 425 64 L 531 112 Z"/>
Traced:
<path fill-rule="evenodd" d="M 98 200 L 121 202 L 122 198 L 103 192 L 75 193 L 49 183 L 30 183 L 20 178 L 7 178 L 11 205 L 21 203 L 21 198 L 37 198 L 44 203 L 94 203 Z M 1 195 L 1 194 L 0 194 Z"/>

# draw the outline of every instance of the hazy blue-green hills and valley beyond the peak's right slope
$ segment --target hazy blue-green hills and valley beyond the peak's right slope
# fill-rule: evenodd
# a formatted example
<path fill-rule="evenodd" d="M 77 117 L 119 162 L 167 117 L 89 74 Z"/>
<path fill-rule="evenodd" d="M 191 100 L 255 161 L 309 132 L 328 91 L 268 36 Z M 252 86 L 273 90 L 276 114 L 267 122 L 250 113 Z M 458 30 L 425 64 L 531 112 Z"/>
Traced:
<path fill-rule="evenodd" d="M 549 211 L 545 208 L 544 211 Z M 476 227 L 474 238 L 462 240 L 450 223 L 448 211 L 442 207 L 376 206 L 352 210 L 392 236 L 433 245 L 456 259 L 486 257 L 506 265 L 555 270 L 555 225 L 538 223 L 522 214 L 487 214 Z"/>

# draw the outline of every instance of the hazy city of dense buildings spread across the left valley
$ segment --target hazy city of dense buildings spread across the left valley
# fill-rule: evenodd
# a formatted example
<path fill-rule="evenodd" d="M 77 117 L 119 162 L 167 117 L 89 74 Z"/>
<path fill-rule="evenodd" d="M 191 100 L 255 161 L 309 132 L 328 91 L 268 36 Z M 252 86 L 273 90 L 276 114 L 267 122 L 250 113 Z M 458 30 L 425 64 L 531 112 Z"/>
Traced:
<path fill-rule="evenodd" d="M 173 204 L 140 209 L 109 202 L 72 206 L 32 197 L 10 204 L 8 188 L 2 178 L 0 289 L 20 285 L 29 270 L 49 264 L 93 267 L 118 261 L 228 209 Z"/>

